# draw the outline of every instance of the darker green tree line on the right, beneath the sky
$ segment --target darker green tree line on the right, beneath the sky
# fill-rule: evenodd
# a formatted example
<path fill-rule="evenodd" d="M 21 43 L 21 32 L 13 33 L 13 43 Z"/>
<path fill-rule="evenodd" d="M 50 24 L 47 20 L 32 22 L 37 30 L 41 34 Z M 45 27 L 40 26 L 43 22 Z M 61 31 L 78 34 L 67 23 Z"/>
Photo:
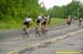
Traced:
<path fill-rule="evenodd" d="M 83 18 L 83 6 L 80 1 L 72 1 L 68 6 L 58 7 L 48 10 L 48 13 L 55 18 Z"/>

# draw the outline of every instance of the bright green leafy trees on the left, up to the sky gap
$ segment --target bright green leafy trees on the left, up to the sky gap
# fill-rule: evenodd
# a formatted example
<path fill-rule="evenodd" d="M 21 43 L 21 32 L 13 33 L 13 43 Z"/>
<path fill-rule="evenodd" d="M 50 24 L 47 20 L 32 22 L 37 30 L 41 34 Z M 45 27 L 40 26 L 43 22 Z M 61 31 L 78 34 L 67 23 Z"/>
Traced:
<path fill-rule="evenodd" d="M 33 19 L 45 10 L 38 0 L 0 0 L 0 21 L 23 20 L 31 15 Z"/>

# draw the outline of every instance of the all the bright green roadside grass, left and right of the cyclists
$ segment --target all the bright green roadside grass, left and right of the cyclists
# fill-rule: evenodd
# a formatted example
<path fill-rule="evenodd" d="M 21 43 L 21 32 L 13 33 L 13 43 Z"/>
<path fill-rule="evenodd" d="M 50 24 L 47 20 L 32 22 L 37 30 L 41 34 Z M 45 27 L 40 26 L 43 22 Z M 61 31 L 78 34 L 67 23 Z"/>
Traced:
<path fill-rule="evenodd" d="M 59 19 L 59 18 L 52 18 L 51 19 L 51 25 L 55 24 L 62 24 L 64 22 L 64 19 Z M 0 30 L 6 30 L 6 29 L 21 29 L 23 26 L 23 22 L 19 21 L 9 21 L 9 22 L 2 22 L 0 21 Z M 32 22 L 32 28 L 35 26 L 35 22 Z"/>

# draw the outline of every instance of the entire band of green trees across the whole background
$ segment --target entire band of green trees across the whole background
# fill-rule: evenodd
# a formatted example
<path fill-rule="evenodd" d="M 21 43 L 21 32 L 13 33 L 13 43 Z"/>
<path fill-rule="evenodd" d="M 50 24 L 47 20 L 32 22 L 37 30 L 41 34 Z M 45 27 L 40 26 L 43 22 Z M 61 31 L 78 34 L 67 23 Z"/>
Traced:
<path fill-rule="evenodd" d="M 83 6 L 79 1 L 72 1 L 68 6 L 45 10 L 38 2 L 39 0 L 0 0 L 0 21 L 23 20 L 31 15 L 33 20 L 39 14 L 50 14 L 54 18 L 79 17 L 83 18 Z"/>

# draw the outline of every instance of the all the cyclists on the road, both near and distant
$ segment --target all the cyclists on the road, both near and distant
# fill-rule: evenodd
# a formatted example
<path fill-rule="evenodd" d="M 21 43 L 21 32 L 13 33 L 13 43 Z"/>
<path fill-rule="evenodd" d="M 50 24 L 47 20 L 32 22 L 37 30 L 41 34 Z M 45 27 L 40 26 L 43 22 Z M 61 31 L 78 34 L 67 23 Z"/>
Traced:
<path fill-rule="evenodd" d="M 42 32 L 43 34 L 46 34 L 50 22 L 51 22 L 50 15 L 38 15 L 38 18 L 35 19 L 35 33 L 39 35 L 40 35 L 40 32 Z M 69 15 L 69 18 L 66 19 L 66 24 L 70 25 L 71 23 L 72 23 L 72 18 L 71 15 Z M 79 25 L 81 26 L 82 23 L 83 23 L 83 19 L 80 18 Z M 29 34 L 29 30 L 32 25 L 32 18 L 30 15 L 27 17 L 23 24 L 24 24 L 23 31 L 24 31 L 24 34 L 27 35 Z"/>

